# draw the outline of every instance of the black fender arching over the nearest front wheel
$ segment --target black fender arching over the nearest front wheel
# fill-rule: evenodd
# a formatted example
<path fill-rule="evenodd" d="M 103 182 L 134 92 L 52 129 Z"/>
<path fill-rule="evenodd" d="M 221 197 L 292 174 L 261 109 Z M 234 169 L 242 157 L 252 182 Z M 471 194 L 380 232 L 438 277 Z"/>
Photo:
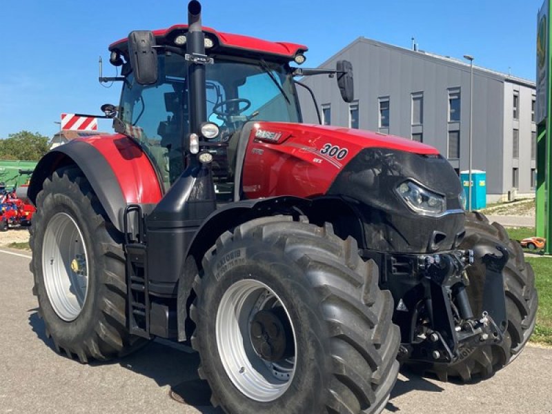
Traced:
<path fill-rule="evenodd" d="M 197 230 L 186 252 L 186 262 L 178 283 L 177 322 L 178 340 L 185 341 L 186 319 L 193 299 L 193 282 L 201 269 L 201 259 L 221 234 L 258 217 L 277 214 L 306 215 L 313 224 L 322 226 L 331 222 L 335 234 L 346 239 L 357 239 L 359 248 L 364 248 L 364 226 L 360 213 L 351 200 L 341 197 L 318 197 L 306 199 L 294 196 L 269 197 L 236 201 L 219 208 L 209 215 Z"/>

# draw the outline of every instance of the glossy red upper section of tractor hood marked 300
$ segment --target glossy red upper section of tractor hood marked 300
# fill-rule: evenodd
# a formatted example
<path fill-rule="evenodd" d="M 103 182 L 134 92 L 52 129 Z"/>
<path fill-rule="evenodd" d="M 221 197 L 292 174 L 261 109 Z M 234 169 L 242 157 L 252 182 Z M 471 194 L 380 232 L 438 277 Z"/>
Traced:
<path fill-rule="evenodd" d="M 325 195 L 340 172 L 366 148 L 437 157 L 431 146 L 377 132 L 281 122 L 244 126 L 242 177 L 247 198 Z M 232 146 L 232 143 L 230 143 Z"/>

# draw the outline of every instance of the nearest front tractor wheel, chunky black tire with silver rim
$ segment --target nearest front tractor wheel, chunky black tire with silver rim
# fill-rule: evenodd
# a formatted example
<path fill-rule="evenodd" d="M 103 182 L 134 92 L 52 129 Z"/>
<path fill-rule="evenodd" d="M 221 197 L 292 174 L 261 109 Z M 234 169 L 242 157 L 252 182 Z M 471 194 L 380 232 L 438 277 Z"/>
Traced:
<path fill-rule="evenodd" d="M 355 239 L 288 216 L 224 233 L 190 317 L 199 376 L 229 414 L 381 413 L 397 380 L 393 297 Z"/>

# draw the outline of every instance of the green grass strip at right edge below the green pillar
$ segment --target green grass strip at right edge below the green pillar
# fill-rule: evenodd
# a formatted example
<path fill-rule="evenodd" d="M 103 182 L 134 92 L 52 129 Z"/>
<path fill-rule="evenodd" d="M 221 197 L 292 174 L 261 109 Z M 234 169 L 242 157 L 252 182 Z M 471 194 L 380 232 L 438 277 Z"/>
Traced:
<path fill-rule="evenodd" d="M 531 342 L 552 345 L 552 257 L 526 257 L 535 270 L 535 285 L 539 293 L 537 326 Z"/>

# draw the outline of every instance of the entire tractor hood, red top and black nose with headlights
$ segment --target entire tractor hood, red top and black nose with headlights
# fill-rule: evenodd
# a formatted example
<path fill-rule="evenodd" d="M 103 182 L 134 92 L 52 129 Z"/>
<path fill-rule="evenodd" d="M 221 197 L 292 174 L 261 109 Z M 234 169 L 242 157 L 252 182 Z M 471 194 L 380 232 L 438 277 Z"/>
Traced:
<path fill-rule="evenodd" d="M 334 126 L 257 122 L 244 132 L 246 198 L 356 200 L 369 236 L 366 246 L 375 250 L 426 253 L 460 243 L 463 189 L 435 148 Z"/>

